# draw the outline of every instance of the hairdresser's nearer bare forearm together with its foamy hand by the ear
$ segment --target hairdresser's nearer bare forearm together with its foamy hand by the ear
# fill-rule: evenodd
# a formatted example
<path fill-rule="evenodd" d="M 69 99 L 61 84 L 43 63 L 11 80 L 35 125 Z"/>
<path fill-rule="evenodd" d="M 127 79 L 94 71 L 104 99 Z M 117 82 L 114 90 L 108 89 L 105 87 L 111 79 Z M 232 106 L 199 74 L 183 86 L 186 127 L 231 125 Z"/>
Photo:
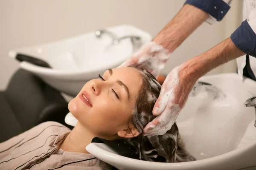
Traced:
<path fill-rule="evenodd" d="M 145 135 L 166 133 L 174 124 L 195 82 L 213 68 L 244 54 L 229 37 L 173 69 L 162 85 L 153 110 L 157 118 L 144 128 Z"/>

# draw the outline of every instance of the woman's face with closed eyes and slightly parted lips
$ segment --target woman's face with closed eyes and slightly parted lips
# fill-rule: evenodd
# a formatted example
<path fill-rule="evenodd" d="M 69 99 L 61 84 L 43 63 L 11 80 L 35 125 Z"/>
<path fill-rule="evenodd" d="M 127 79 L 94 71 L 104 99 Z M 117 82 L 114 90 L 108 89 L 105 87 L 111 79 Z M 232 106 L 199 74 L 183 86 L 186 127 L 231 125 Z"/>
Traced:
<path fill-rule="evenodd" d="M 127 128 L 143 81 L 127 67 L 109 69 L 102 78 L 87 82 L 68 108 L 96 136 L 108 137 Z"/>

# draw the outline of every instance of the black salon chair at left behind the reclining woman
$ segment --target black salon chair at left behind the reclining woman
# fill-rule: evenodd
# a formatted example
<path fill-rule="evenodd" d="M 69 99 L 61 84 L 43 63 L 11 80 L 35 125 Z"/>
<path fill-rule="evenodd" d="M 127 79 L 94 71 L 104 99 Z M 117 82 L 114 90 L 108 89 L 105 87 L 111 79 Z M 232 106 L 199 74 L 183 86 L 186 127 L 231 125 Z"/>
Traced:
<path fill-rule="evenodd" d="M 46 121 L 60 122 L 67 102 L 60 92 L 34 74 L 19 69 L 12 76 L 6 91 L 0 91 L 0 142 L 4 142 Z"/>

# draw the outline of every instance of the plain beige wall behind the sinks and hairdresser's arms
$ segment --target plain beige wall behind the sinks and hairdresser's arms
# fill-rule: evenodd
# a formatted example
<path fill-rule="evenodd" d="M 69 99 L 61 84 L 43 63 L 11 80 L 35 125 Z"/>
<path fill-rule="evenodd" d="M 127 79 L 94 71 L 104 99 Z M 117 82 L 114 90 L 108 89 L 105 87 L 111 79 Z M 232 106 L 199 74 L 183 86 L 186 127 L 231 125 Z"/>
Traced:
<path fill-rule="evenodd" d="M 18 68 L 18 62 L 8 57 L 10 49 L 120 24 L 131 24 L 154 37 L 183 3 L 184 0 L 0 0 L 0 90 L 6 88 Z M 163 73 L 229 37 L 241 22 L 239 14 L 241 0 L 233 1 L 222 22 L 200 26 L 172 54 Z M 233 62 L 210 74 L 235 70 Z"/>

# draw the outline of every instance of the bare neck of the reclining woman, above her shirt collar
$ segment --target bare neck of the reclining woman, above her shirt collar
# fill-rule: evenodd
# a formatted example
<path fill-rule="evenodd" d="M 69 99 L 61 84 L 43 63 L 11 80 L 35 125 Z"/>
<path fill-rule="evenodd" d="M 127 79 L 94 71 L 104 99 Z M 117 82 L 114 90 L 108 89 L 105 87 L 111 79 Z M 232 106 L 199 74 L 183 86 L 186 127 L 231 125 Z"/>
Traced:
<path fill-rule="evenodd" d="M 71 130 L 66 139 L 61 143 L 60 148 L 67 152 L 88 153 L 85 147 L 95 137 L 90 130 L 86 129 L 79 122 Z"/>

